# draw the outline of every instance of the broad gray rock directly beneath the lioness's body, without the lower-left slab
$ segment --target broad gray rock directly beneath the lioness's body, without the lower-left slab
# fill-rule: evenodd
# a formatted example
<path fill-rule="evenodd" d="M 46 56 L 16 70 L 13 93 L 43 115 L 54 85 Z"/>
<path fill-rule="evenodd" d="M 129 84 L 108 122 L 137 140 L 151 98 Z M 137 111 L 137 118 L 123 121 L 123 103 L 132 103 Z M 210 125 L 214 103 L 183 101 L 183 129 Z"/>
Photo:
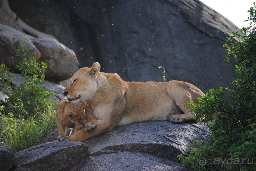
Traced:
<path fill-rule="evenodd" d="M 57 130 L 49 134 L 45 141 L 55 140 L 56 133 Z M 84 141 L 90 155 L 70 170 L 186 170 L 177 156 L 187 156 L 194 140 L 205 144 L 209 139 L 209 129 L 204 124 L 128 124 Z"/>

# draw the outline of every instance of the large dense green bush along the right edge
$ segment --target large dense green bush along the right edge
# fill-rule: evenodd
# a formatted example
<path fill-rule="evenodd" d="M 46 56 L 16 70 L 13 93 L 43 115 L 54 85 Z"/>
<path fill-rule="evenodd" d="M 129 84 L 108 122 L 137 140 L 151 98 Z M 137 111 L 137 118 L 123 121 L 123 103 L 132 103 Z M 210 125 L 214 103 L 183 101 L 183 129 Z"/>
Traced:
<path fill-rule="evenodd" d="M 198 121 L 207 121 L 213 140 L 192 148 L 188 157 L 179 155 L 190 170 L 256 170 L 256 7 L 250 9 L 251 27 L 227 37 L 228 56 L 235 62 L 233 88 L 209 89 L 199 104 L 188 108 Z M 234 39 L 238 41 L 234 41 Z M 226 95 L 233 100 L 225 99 Z"/>

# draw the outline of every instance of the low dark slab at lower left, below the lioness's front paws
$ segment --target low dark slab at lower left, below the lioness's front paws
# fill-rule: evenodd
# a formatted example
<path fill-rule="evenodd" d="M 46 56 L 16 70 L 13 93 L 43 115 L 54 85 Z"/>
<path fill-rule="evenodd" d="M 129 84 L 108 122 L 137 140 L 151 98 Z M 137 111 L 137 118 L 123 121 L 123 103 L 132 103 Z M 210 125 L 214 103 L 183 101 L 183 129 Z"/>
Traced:
<path fill-rule="evenodd" d="M 69 170 L 88 156 L 83 143 L 52 141 L 15 153 L 12 170 Z"/>

